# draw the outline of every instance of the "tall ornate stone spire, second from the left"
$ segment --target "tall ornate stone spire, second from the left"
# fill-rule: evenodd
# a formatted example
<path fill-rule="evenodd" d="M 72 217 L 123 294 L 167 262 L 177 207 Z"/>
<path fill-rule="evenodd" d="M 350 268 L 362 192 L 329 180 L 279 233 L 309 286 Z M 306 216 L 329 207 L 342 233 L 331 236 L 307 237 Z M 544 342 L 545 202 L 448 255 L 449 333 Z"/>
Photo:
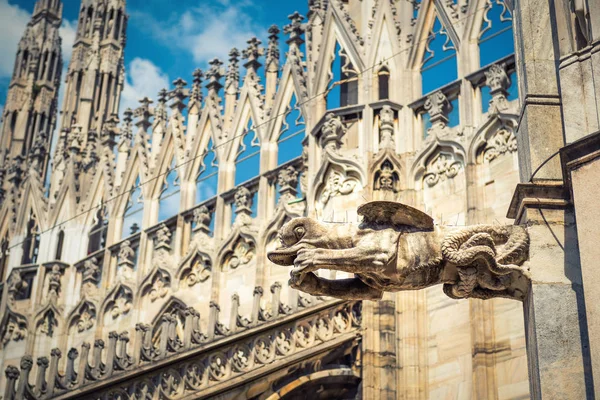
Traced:
<path fill-rule="evenodd" d="M 109 4 L 110 3 L 110 4 Z M 82 0 L 66 78 L 62 128 L 77 124 L 84 137 L 119 111 L 125 67 L 125 0 Z"/>

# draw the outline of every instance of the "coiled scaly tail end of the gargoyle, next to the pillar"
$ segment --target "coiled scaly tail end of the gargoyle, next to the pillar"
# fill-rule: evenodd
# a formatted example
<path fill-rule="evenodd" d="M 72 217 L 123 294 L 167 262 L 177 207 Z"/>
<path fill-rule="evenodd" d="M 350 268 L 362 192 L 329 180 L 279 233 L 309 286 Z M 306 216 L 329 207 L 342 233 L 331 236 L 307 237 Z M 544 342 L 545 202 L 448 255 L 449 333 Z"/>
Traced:
<path fill-rule="evenodd" d="M 444 259 L 456 265 L 458 281 L 444 284 L 455 298 L 522 299 L 515 281 L 529 280 L 526 268 L 529 236 L 520 226 L 474 226 L 450 233 L 442 242 Z"/>

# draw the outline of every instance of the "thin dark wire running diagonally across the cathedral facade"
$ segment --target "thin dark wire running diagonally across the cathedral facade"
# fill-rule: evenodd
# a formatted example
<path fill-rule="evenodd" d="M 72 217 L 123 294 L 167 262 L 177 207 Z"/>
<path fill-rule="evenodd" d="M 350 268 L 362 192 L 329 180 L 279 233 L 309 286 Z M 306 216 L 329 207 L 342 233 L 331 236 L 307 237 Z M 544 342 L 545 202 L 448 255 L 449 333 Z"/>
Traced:
<path fill-rule="evenodd" d="M 459 19 L 457 19 L 456 21 L 454 21 L 454 24 L 456 24 L 456 23 L 458 23 L 458 22 L 461 22 L 461 21 L 463 21 L 463 20 L 465 20 L 465 19 L 467 19 L 467 18 L 471 17 L 472 15 L 474 15 L 474 14 L 475 14 L 476 12 L 478 12 L 479 10 L 485 9 L 485 8 L 487 8 L 487 7 L 488 7 L 488 4 L 486 3 L 486 4 L 485 4 L 483 7 L 480 7 L 480 8 L 477 8 L 477 9 L 475 9 L 473 13 L 471 13 L 471 14 L 466 14 L 466 15 L 465 15 L 463 18 L 459 18 Z M 422 42 L 426 42 L 427 40 L 429 40 L 429 38 L 430 38 L 431 34 L 435 35 L 435 34 L 438 34 L 438 33 L 442 33 L 443 31 L 444 31 L 444 27 L 442 27 L 442 28 L 441 28 L 439 31 L 437 31 L 437 32 L 436 32 L 436 31 L 431 31 L 431 32 L 430 32 L 430 34 L 429 34 L 429 35 L 427 35 L 427 37 L 425 37 L 424 39 L 422 39 L 422 40 L 419 40 L 419 41 L 417 41 L 417 42 L 413 42 L 413 43 L 412 43 L 412 44 L 411 44 L 409 47 L 406 47 L 406 48 L 404 48 L 404 49 L 401 49 L 401 50 L 399 50 L 398 52 L 396 52 L 396 53 L 392 54 L 391 56 L 389 56 L 388 58 L 383 58 L 383 59 L 381 59 L 380 61 L 376 62 L 375 64 L 371 65 L 370 67 L 367 67 L 367 68 L 363 69 L 362 71 L 359 71 L 359 72 L 357 72 L 357 73 L 356 73 L 356 76 L 353 76 L 353 77 L 351 77 L 351 78 L 348 78 L 348 79 L 342 79 L 342 80 L 339 80 L 339 81 L 336 81 L 336 82 L 334 82 L 334 83 L 331 85 L 331 87 L 329 87 L 329 88 L 328 88 L 328 89 L 326 89 L 325 91 L 323 91 L 323 92 L 321 92 L 321 93 L 317 93 L 317 94 L 315 94 L 313 97 L 310 97 L 310 98 L 306 99 L 305 101 L 303 101 L 303 102 L 301 102 L 301 103 L 297 103 L 297 106 L 302 106 L 302 105 L 304 105 L 304 104 L 307 104 L 307 103 L 309 103 L 309 102 L 311 102 L 311 101 L 315 100 L 315 99 L 316 99 L 316 98 L 318 98 L 318 97 L 321 97 L 321 96 L 323 96 L 323 95 L 327 95 L 327 94 L 328 94 L 328 93 L 329 93 L 331 90 L 333 90 L 333 88 L 334 88 L 335 86 L 342 85 L 342 84 L 344 84 L 344 83 L 347 83 L 347 82 L 349 82 L 349 81 L 351 81 L 351 80 L 354 80 L 354 79 L 356 79 L 356 77 L 357 77 L 357 76 L 363 75 L 365 72 L 368 72 L 368 71 L 370 71 L 370 70 L 374 69 L 375 67 L 377 67 L 377 66 L 379 66 L 379 65 L 383 65 L 383 63 L 384 63 L 384 62 L 386 62 L 386 61 L 389 61 L 389 60 L 391 60 L 392 58 L 394 58 L 394 57 L 396 57 L 396 56 L 398 56 L 398 55 L 400 55 L 400 54 L 402 54 L 402 53 L 404 53 L 404 52 L 406 52 L 406 51 L 409 51 L 409 50 L 411 50 L 413 47 L 415 47 L 415 46 L 416 46 L 416 45 L 418 45 L 418 44 L 421 44 Z M 280 114 L 277 114 L 277 115 L 273 116 L 273 117 L 272 117 L 272 118 L 270 118 L 270 119 L 267 119 L 266 121 L 264 121 L 264 122 L 262 122 L 262 123 L 260 123 L 260 124 L 258 124 L 258 125 L 252 126 L 251 128 L 252 128 L 252 129 L 256 129 L 256 128 L 258 128 L 258 127 L 264 126 L 264 125 L 266 125 L 267 123 L 269 123 L 269 122 L 271 122 L 271 121 L 274 121 L 275 119 L 277 119 L 277 118 L 279 118 L 279 117 L 281 117 L 281 116 L 285 116 L 285 114 L 286 114 L 286 113 L 287 113 L 287 110 L 286 110 L 286 111 L 284 111 L 284 112 L 282 112 L 282 113 L 280 113 Z M 303 129 L 303 131 L 305 131 L 305 130 L 306 130 L 306 129 Z M 298 133 L 298 132 L 297 132 L 297 133 Z M 128 194 L 128 193 L 131 193 L 131 192 L 135 191 L 135 190 L 136 190 L 136 189 L 138 189 L 138 188 L 141 188 L 143 185 L 146 185 L 146 184 L 148 184 L 148 183 L 151 183 L 151 182 L 153 182 L 154 180 L 156 180 L 156 179 L 158 179 L 158 178 L 160 178 L 160 177 L 162 177 L 162 176 L 168 175 L 168 174 L 169 174 L 169 173 L 170 173 L 172 170 L 175 170 L 175 169 L 177 169 L 177 168 L 179 168 L 179 167 L 182 167 L 182 166 L 184 166 L 184 165 L 186 165 L 186 164 L 189 164 L 189 163 L 191 163 L 191 162 L 193 162 L 193 161 L 197 160 L 198 158 L 205 156 L 205 155 L 206 155 L 206 154 L 208 154 L 208 153 L 209 153 L 211 150 L 213 150 L 213 149 L 217 149 L 217 148 L 219 148 L 219 147 L 221 147 L 221 146 L 224 146 L 224 145 L 226 145 L 226 144 L 228 144 L 228 143 L 232 142 L 233 140 L 237 139 L 238 137 L 242 137 L 242 136 L 244 136 L 245 134 L 247 134 L 247 132 L 242 132 L 242 133 L 240 133 L 239 135 L 235 135 L 235 136 L 231 137 L 230 139 L 227 139 L 227 140 L 225 140 L 225 141 L 221 142 L 221 143 L 220 143 L 220 144 L 218 144 L 217 146 L 214 146 L 214 145 L 213 145 L 213 148 L 212 148 L 212 149 L 207 149 L 207 150 L 205 150 L 203 153 L 200 153 L 200 154 L 198 154 L 198 155 L 194 156 L 193 158 L 190 158 L 189 160 L 186 160 L 186 161 L 182 162 L 181 164 L 175 165 L 173 168 L 168 168 L 168 169 L 167 169 L 165 172 L 163 172 L 163 173 L 161 173 L 161 174 L 158 174 L 158 175 L 156 175 L 155 177 L 153 177 L 153 178 L 150 178 L 150 179 L 148 179 L 148 180 L 146 180 L 146 181 L 144 181 L 144 182 L 141 182 L 139 185 L 132 186 L 132 187 L 131 187 L 131 189 L 129 189 L 129 190 L 127 190 L 127 191 L 124 191 L 124 192 L 122 192 L 122 193 L 120 193 L 120 194 L 118 194 L 118 195 L 116 195 L 116 196 L 113 196 L 113 197 L 111 197 L 111 198 L 107 199 L 106 201 L 103 201 L 103 202 L 102 202 L 102 205 L 105 205 L 105 204 L 106 204 L 106 203 L 108 203 L 108 202 L 111 202 L 111 201 L 117 200 L 117 199 L 119 199 L 119 198 L 121 198 L 121 197 L 125 196 L 126 194 Z M 95 210 L 95 209 L 97 209 L 97 208 L 100 208 L 100 207 L 101 207 L 101 205 L 95 205 L 95 206 L 92 206 L 91 208 L 89 208 L 89 209 L 87 209 L 87 210 L 85 210 L 85 211 L 82 211 L 82 212 L 80 212 L 79 214 L 76 214 L 76 215 L 74 215 L 74 216 L 73 216 L 73 217 L 71 217 L 71 218 L 68 218 L 68 219 L 66 219 L 66 220 L 64 220 L 64 221 L 61 221 L 61 222 L 59 222 L 59 223 L 56 223 L 56 224 L 55 224 L 55 225 L 53 225 L 52 227 L 50 227 L 50 228 L 47 228 L 47 229 L 45 229 L 45 230 L 43 230 L 43 231 L 40 231 L 39 233 L 36 233 L 36 235 L 38 235 L 38 236 L 41 236 L 41 235 L 43 235 L 44 233 L 50 232 L 50 231 L 54 230 L 55 228 L 57 228 L 57 227 L 60 227 L 60 226 L 62 226 L 62 225 L 64 225 L 64 224 L 66 224 L 66 223 L 68 223 L 68 222 L 71 222 L 71 221 L 73 221 L 73 220 L 75 220 L 75 219 L 77 219 L 77 218 L 81 217 L 82 215 L 84 215 L 84 214 L 87 214 L 87 213 L 89 213 L 90 211 L 93 211 L 93 210 Z M 22 245 L 23 243 L 25 243 L 25 241 L 22 241 L 22 242 L 16 243 L 15 245 L 13 245 L 13 246 L 10 246 L 10 247 L 9 247 L 7 250 L 10 250 L 10 249 L 12 249 L 12 248 L 18 247 L 18 246 Z"/>

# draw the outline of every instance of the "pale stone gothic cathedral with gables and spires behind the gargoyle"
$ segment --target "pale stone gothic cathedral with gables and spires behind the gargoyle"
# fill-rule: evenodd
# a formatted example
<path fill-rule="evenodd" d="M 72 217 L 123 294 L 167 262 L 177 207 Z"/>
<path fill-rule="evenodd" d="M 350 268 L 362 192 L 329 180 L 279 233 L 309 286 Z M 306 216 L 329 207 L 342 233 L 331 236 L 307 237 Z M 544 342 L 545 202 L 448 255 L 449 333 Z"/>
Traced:
<path fill-rule="evenodd" d="M 374 200 L 457 227 L 522 220 L 515 189 L 562 183 L 567 164 L 540 163 L 599 129 L 597 3 L 309 0 L 120 111 L 126 1 L 81 1 L 61 77 L 63 5 L 38 0 L 0 128 L 0 395 L 535 397 L 524 303 L 311 296 L 267 253 L 292 218 L 343 226 Z"/>

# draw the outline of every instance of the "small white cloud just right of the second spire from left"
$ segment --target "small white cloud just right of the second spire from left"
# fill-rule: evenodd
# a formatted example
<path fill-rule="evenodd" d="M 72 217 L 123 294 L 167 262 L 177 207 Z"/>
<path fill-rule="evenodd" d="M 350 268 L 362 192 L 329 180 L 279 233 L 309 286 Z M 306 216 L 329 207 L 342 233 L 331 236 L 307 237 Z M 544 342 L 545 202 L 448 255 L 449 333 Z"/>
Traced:
<path fill-rule="evenodd" d="M 139 100 L 149 97 L 156 101 L 161 89 L 169 88 L 169 77 L 150 60 L 134 58 L 128 65 L 125 74 L 125 87 L 121 95 L 121 110 L 139 107 Z"/>

